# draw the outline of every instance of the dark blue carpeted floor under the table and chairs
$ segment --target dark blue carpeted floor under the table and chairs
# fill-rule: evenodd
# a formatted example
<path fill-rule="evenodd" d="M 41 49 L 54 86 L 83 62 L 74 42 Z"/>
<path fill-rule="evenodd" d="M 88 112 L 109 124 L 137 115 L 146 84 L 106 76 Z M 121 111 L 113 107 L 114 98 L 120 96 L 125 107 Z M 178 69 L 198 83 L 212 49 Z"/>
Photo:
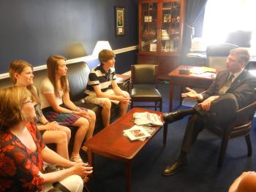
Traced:
<path fill-rule="evenodd" d="M 168 84 L 159 85 L 159 91 L 164 98 L 164 112 L 168 111 L 169 106 L 168 86 Z M 178 93 L 178 88 L 176 88 L 175 99 L 178 98 Z M 177 105 L 178 102 L 176 100 L 174 102 Z M 246 156 L 244 138 L 230 140 L 222 169 L 218 169 L 220 139 L 208 131 L 203 131 L 193 145 L 192 152 L 188 155 L 187 168 L 173 176 L 163 177 L 162 171 L 165 166 L 175 161 L 178 156 L 187 118 L 170 124 L 167 147 L 162 147 L 161 130 L 135 158 L 132 165 L 132 191 L 227 191 L 230 183 L 241 172 L 256 168 L 255 123 L 251 131 L 252 157 Z M 94 155 L 94 180 L 88 183 L 88 187 L 91 192 L 125 191 L 124 175 L 124 164 Z"/>

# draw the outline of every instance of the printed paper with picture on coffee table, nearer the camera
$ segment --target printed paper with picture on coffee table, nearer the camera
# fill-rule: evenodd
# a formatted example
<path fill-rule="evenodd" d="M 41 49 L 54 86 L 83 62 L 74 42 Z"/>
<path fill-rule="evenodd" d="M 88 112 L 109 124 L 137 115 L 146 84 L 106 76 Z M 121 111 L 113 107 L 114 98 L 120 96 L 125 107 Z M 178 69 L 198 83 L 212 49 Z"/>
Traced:
<path fill-rule="evenodd" d="M 132 126 L 132 128 L 124 130 L 124 136 L 128 137 L 132 141 L 138 140 L 138 139 L 146 139 L 146 137 L 150 137 L 151 134 L 148 134 L 148 131 L 146 131 L 143 126 Z"/>

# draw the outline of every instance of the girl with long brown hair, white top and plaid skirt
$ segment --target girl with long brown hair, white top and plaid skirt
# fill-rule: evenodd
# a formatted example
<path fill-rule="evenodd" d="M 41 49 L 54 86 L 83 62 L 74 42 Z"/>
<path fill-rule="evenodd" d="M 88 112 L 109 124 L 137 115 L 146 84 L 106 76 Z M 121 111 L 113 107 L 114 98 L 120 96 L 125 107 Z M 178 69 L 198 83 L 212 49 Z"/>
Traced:
<path fill-rule="evenodd" d="M 66 58 L 51 55 L 47 60 L 48 77 L 42 81 L 39 96 L 42 112 L 49 120 L 56 120 L 63 126 L 75 126 L 75 142 L 71 161 L 82 161 L 79 155 L 83 139 L 91 139 L 95 126 L 95 113 L 77 107 L 69 98 Z"/>

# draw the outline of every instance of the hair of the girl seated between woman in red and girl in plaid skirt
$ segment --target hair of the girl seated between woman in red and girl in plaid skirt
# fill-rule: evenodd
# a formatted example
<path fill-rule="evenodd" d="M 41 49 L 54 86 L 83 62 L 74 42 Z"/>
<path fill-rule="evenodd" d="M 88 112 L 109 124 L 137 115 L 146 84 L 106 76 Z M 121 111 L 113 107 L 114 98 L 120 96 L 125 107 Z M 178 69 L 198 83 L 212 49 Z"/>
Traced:
<path fill-rule="evenodd" d="M 12 61 L 10 66 L 9 66 L 9 74 L 10 74 L 10 78 L 12 80 L 12 83 L 15 85 L 17 82 L 17 79 L 15 78 L 15 73 L 20 74 L 21 72 L 23 72 L 23 70 L 26 67 L 30 67 L 33 71 L 33 66 L 31 64 L 29 64 L 27 61 L 23 61 L 23 60 L 15 60 Z M 31 97 L 32 99 L 37 102 L 37 104 L 39 104 L 40 100 L 39 97 L 37 96 L 37 93 L 35 91 L 35 88 L 33 85 L 28 85 L 26 86 L 26 88 L 31 92 Z"/>

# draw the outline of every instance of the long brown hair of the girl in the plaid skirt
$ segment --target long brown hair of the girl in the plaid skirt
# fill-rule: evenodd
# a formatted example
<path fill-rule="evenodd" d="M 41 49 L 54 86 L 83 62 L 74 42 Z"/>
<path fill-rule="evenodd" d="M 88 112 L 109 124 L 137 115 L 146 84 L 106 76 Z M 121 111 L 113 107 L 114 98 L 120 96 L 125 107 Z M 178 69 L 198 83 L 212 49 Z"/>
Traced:
<path fill-rule="evenodd" d="M 61 55 L 50 55 L 47 59 L 47 72 L 48 72 L 48 79 L 53 84 L 54 93 L 57 96 L 59 94 L 56 82 L 56 72 L 59 69 L 59 61 L 67 59 Z M 67 83 L 67 75 L 61 77 L 61 88 L 63 89 L 64 93 L 69 92 L 69 86 Z"/>

